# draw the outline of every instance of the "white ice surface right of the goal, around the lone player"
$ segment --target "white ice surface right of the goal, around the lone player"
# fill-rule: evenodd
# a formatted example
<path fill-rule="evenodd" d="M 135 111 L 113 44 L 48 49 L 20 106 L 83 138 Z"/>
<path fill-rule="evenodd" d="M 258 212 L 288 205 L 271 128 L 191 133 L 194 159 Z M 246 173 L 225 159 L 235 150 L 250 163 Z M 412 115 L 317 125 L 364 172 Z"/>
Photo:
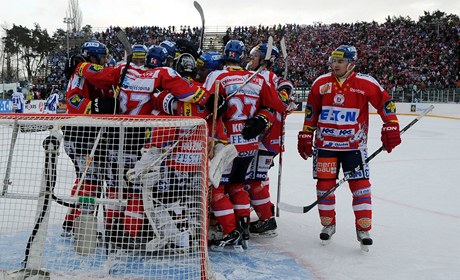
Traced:
<path fill-rule="evenodd" d="M 414 118 L 400 115 L 401 128 Z M 312 162 L 297 154 L 302 123 L 303 114 L 287 118 L 283 154 L 281 201 L 294 205 L 316 199 Z M 382 122 L 373 114 L 370 123 L 369 154 L 381 145 Z M 253 240 L 254 246 L 266 245 L 292 257 L 309 271 L 305 279 L 460 279 L 460 118 L 426 116 L 402 141 L 391 154 L 382 152 L 370 162 L 374 245 L 368 253 L 356 241 L 347 183 L 336 191 L 337 233 L 329 245 L 320 243 L 322 227 L 314 208 L 306 214 L 281 211 L 278 237 Z M 278 160 L 270 173 L 273 201 L 277 177 Z M 244 267 L 238 271 L 223 279 L 249 279 Z M 252 279 L 289 277 L 264 270 L 263 277 Z"/>

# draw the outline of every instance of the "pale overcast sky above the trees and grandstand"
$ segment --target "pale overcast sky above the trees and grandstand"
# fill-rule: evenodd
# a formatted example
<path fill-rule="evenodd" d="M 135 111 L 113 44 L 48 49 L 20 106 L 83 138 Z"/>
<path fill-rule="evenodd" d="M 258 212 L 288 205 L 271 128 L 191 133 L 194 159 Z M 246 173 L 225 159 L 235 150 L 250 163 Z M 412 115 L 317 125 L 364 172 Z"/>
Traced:
<path fill-rule="evenodd" d="M 424 11 L 440 10 L 460 14 L 457 0 L 387 0 L 370 1 L 247 1 L 200 0 L 206 26 L 239 26 L 271 24 L 313 24 L 315 22 L 357 22 L 375 20 L 384 22 L 387 16 L 410 16 L 418 20 Z M 129 4 L 128 4 L 129 3 Z M 33 28 L 39 23 L 52 34 L 56 29 L 66 29 L 63 19 L 68 11 L 66 0 L 0 0 L 0 26 L 11 28 L 14 24 Z M 6 8 L 5 8 L 6 7 Z M 125 26 L 200 26 L 201 20 L 192 0 L 126 1 L 80 0 L 83 26 L 104 28 L 110 25 Z M 94 29 L 93 29 L 94 30 Z"/>

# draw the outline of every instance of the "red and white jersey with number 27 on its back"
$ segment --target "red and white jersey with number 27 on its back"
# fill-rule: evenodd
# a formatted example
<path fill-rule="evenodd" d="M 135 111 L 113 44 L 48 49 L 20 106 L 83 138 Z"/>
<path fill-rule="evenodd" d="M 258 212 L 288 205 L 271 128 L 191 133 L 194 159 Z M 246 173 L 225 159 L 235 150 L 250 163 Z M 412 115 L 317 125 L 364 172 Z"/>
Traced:
<path fill-rule="evenodd" d="M 252 74 L 253 72 L 242 68 L 226 67 L 224 70 L 211 72 L 204 82 L 207 91 L 215 92 L 215 81 L 220 80 L 219 94 L 227 99 L 228 105 L 222 120 L 227 128 L 229 142 L 240 153 L 258 149 L 258 137 L 245 140 L 241 135 L 248 119 L 254 117 L 263 107 L 277 112 L 284 112 L 287 108 L 287 103 L 278 96 L 275 87 L 270 86 L 260 74 L 236 92 Z"/>

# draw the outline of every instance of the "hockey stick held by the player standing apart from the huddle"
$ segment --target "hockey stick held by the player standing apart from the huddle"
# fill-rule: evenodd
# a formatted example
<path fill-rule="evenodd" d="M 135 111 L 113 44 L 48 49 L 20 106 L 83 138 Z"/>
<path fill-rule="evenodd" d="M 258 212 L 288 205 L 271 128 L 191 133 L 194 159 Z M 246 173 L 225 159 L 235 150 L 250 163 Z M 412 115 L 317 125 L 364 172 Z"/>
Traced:
<path fill-rule="evenodd" d="M 409 128 L 411 128 L 415 123 L 417 123 L 421 118 L 423 118 L 426 114 L 431 112 L 431 110 L 434 109 L 434 106 L 431 105 L 428 107 L 425 111 L 423 111 L 420 115 L 418 115 L 414 120 L 412 120 L 408 125 L 406 125 L 403 129 L 401 129 L 400 134 L 402 135 L 404 132 L 406 132 Z M 365 161 L 364 164 L 367 164 L 370 162 L 373 158 L 375 158 L 378 154 L 380 154 L 385 148 L 381 146 L 377 151 L 372 153 Z M 355 169 L 352 172 L 347 173 L 342 179 L 340 179 L 332 188 L 330 188 L 327 192 L 325 192 L 323 195 L 321 195 L 315 202 L 313 202 L 310 205 L 307 206 L 295 206 L 295 205 L 290 205 L 287 203 L 279 203 L 280 209 L 291 212 L 291 213 L 298 213 L 298 214 L 303 214 L 307 213 L 313 207 L 315 207 L 321 200 L 325 199 L 328 195 L 330 195 L 332 192 L 334 192 L 340 185 L 348 181 L 351 177 L 353 177 L 358 171 L 361 170 L 361 165 L 358 165 L 355 167 Z"/>

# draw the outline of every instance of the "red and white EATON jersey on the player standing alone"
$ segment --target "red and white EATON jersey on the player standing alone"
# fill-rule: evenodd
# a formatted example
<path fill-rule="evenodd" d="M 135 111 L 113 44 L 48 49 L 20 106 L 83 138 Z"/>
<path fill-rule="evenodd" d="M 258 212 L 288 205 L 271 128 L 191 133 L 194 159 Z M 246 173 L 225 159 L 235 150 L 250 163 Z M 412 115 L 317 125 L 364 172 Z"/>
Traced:
<path fill-rule="evenodd" d="M 391 96 L 371 76 L 353 72 L 343 83 L 332 73 L 318 77 L 305 108 L 303 130 L 316 128 L 316 148 L 367 148 L 369 103 L 383 122 L 397 121 Z"/>

